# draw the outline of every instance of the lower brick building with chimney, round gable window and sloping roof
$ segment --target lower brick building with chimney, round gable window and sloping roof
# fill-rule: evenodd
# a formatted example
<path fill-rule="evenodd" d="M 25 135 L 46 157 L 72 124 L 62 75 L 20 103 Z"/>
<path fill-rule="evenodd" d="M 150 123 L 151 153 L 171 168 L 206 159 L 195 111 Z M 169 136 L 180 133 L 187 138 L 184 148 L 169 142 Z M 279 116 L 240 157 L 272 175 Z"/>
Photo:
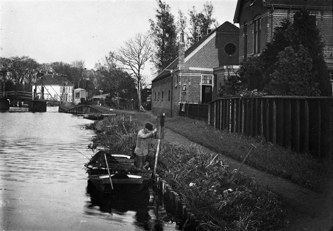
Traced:
<path fill-rule="evenodd" d="M 239 28 L 228 21 L 186 51 L 181 38 L 178 58 L 152 81 L 153 113 L 174 117 L 179 103 L 216 99 L 219 86 L 239 68 L 238 52 Z"/>

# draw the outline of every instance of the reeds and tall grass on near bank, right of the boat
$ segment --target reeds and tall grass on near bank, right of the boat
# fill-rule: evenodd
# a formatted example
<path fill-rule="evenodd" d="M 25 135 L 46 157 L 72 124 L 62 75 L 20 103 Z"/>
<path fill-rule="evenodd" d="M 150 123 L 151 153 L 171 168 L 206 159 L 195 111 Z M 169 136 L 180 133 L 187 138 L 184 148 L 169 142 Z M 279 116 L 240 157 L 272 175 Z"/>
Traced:
<path fill-rule="evenodd" d="M 286 207 L 280 197 L 242 174 L 229 184 L 234 170 L 225 159 L 196 146 L 171 144 L 163 145 L 161 154 L 174 164 L 158 173 L 196 211 L 199 230 L 282 229 Z"/>

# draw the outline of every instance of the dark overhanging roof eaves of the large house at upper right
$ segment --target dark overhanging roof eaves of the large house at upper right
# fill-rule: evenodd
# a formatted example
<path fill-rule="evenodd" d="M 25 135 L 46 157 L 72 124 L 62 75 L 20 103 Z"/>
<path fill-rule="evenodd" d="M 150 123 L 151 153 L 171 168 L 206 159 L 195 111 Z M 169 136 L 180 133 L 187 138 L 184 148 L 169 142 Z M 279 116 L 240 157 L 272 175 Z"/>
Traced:
<path fill-rule="evenodd" d="M 240 11 L 243 8 L 245 0 L 238 0 L 234 23 L 239 23 Z M 264 7 L 272 7 L 274 8 L 309 8 L 309 9 L 324 9 L 327 7 L 332 7 L 332 0 L 257 0 L 261 1 Z M 257 2 L 255 1 L 255 2 Z"/>

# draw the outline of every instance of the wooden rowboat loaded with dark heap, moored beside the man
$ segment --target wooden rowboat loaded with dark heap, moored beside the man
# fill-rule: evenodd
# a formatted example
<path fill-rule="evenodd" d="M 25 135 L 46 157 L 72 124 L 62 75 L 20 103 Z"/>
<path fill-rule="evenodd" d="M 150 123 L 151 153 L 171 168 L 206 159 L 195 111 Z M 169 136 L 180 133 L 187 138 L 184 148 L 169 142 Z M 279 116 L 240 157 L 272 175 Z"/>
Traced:
<path fill-rule="evenodd" d="M 107 156 L 108 165 L 104 154 Z M 147 187 L 153 173 L 151 170 L 136 169 L 135 158 L 126 152 L 101 150 L 92 156 L 85 166 L 89 179 L 102 192 L 138 192 Z"/>

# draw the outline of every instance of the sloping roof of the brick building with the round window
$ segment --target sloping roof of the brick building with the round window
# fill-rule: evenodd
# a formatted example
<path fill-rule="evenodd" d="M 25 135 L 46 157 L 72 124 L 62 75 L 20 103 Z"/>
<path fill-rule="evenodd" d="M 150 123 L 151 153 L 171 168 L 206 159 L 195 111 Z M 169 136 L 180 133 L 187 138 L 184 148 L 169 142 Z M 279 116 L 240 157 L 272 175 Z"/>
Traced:
<path fill-rule="evenodd" d="M 236 27 L 234 24 L 232 24 L 231 22 L 225 21 L 221 26 L 217 27 L 216 29 L 214 29 L 213 31 L 211 31 L 209 34 L 207 34 L 206 36 L 204 36 L 203 38 L 201 38 L 199 41 L 197 41 L 196 43 L 194 43 L 188 50 L 185 51 L 185 57 L 188 57 L 189 55 L 191 55 L 193 52 L 195 52 L 195 50 L 203 43 L 205 42 L 207 39 L 211 39 L 212 37 L 216 36 L 216 32 L 237 32 L 239 33 L 239 28 Z M 166 76 L 170 74 L 170 70 L 173 70 L 175 68 L 177 68 L 178 66 L 178 58 L 176 58 L 172 63 L 170 63 L 160 74 L 158 74 L 158 76 L 153 79 L 152 82 Z"/>

